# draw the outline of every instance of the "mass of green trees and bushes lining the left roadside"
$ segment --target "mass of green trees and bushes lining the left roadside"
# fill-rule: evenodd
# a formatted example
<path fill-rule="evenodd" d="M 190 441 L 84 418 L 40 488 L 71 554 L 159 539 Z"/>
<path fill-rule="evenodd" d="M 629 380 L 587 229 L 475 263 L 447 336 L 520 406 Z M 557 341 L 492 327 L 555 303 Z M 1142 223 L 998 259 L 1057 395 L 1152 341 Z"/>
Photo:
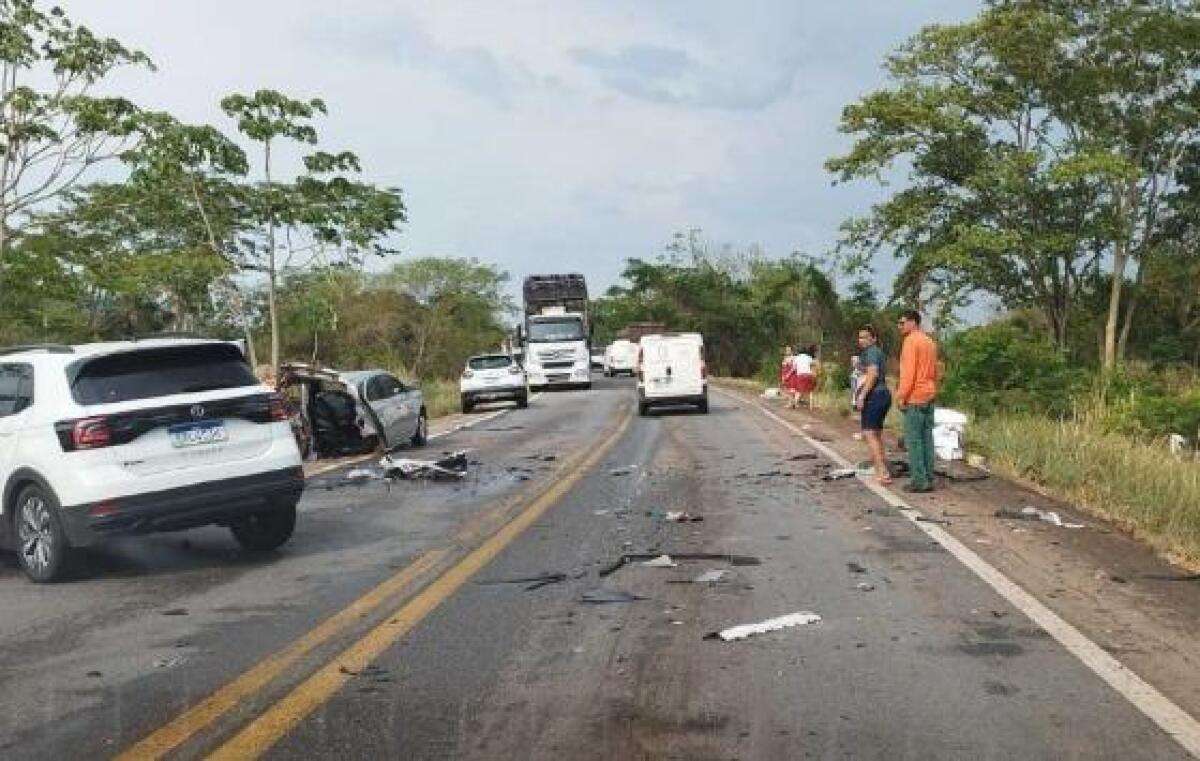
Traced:
<path fill-rule="evenodd" d="M 238 338 L 263 374 L 384 367 L 456 406 L 508 276 L 398 259 L 402 192 L 322 140 L 324 100 L 232 92 L 187 122 L 120 92 L 149 56 L 60 8 L 0 0 L 0 343 Z"/>

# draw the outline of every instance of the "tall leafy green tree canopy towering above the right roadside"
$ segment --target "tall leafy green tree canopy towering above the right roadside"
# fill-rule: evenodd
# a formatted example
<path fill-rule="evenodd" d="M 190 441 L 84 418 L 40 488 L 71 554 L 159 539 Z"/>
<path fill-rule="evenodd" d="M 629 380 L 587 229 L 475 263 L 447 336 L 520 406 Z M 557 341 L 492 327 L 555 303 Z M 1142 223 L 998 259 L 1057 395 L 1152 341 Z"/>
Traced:
<path fill-rule="evenodd" d="M 1153 253 L 1196 138 L 1198 54 L 1195 4 L 1168 0 L 992 0 L 922 30 L 888 59 L 893 85 L 844 112 L 857 139 L 828 164 L 839 179 L 911 167 L 910 187 L 848 222 L 845 244 L 904 258 L 910 299 L 982 290 L 1038 308 L 1060 348 L 1111 263 L 1111 367 L 1128 265 Z"/>

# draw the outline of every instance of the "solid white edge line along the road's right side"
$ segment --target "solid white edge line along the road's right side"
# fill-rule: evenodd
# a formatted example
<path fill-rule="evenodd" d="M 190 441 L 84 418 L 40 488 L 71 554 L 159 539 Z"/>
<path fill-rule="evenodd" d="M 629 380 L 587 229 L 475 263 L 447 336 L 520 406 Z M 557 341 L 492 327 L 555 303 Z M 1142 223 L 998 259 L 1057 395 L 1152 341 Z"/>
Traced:
<path fill-rule="evenodd" d="M 836 462 L 840 467 L 851 467 L 848 460 L 839 455 L 833 449 L 814 439 L 802 429 L 788 420 L 776 415 L 762 405 L 743 402 L 733 394 L 719 391 L 727 396 L 736 405 L 746 403 L 757 408 L 775 423 L 782 425 L 803 438 L 810 447 Z M 1002 598 L 1008 600 L 1014 607 L 1030 617 L 1034 623 L 1046 630 L 1046 633 L 1058 641 L 1067 651 L 1078 658 L 1085 666 L 1092 670 L 1098 677 L 1104 679 L 1109 687 L 1120 693 L 1126 700 L 1141 711 L 1151 721 L 1157 724 L 1164 732 L 1170 735 L 1175 742 L 1183 747 L 1194 757 L 1200 759 L 1200 721 L 1196 721 L 1189 713 L 1172 703 L 1165 695 L 1154 689 L 1148 682 L 1126 667 L 1120 660 L 1110 655 L 1099 645 L 1088 640 L 1084 633 L 1063 621 L 1057 613 L 1043 605 L 1037 598 L 1026 592 L 1004 574 L 1000 573 L 990 563 L 974 553 L 970 547 L 947 533 L 943 528 L 934 523 L 918 521 L 922 515 L 919 510 L 906 503 L 904 499 L 884 489 L 872 480 L 859 477 L 864 486 L 886 499 L 889 504 L 900 509 L 901 515 L 925 532 L 934 541 L 946 547 L 960 563 L 970 568 L 977 576 L 983 579 Z"/>

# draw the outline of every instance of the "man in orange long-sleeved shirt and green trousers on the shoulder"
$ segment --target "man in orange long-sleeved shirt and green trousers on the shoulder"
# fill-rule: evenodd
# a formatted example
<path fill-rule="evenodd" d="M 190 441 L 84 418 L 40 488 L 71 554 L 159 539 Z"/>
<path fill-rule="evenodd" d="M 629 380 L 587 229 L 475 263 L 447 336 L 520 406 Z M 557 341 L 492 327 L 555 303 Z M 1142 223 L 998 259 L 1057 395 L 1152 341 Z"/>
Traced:
<path fill-rule="evenodd" d="M 900 318 L 900 384 L 896 405 L 904 412 L 904 441 L 908 449 L 905 491 L 934 491 L 934 399 L 937 396 L 937 344 L 920 329 L 920 313 Z"/>

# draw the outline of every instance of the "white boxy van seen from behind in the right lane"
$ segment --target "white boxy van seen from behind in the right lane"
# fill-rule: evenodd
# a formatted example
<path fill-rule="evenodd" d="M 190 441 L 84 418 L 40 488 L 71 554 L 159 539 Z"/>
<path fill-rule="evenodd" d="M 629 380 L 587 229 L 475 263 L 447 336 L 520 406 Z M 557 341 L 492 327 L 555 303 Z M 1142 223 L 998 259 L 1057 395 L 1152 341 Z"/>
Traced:
<path fill-rule="evenodd" d="M 637 412 L 655 405 L 695 405 L 708 412 L 704 338 L 698 332 L 643 336 L 637 354 Z"/>

